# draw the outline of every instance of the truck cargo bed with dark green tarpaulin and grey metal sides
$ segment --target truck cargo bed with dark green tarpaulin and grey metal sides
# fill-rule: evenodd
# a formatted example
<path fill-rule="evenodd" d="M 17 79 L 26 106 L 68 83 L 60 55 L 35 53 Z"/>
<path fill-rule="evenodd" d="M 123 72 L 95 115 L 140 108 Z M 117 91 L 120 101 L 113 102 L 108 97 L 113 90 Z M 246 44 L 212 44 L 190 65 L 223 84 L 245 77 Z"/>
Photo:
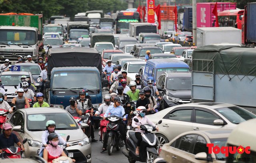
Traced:
<path fill-rule="evenodd" d="M 224 102 L 254 107 L 255 111 L 255 60 L 254 48 L 196 48 L 192 58 L 192 102 Z"/>

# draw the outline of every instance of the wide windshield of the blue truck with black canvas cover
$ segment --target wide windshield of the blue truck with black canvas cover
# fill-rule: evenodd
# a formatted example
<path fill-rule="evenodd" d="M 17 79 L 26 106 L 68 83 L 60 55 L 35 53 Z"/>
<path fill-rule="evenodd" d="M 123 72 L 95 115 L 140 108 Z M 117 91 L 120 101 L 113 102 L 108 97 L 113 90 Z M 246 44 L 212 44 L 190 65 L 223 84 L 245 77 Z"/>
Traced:
<path fill-rule="evenodd" d="M 84 75 L 86 74 L 86 75 Z M 98 74 L 94 71 L 57 71 L 54 72 L 52 88 L 69 88 L 72 90 L 100 89 Z"/>

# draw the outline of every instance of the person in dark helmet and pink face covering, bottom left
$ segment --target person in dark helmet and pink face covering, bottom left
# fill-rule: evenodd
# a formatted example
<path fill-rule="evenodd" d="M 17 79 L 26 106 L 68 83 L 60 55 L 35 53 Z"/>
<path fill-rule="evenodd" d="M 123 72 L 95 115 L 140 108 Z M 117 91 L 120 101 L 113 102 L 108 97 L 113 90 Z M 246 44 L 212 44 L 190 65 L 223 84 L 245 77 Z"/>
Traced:
<path fill-rule="evenodd" d="M 58 146 L 58 135 L 56 133 L 51 133 L 47 137 L 49 144 L 44 149 L 44 159 L 48 163 L 52 163 L 52 160 L 57 159 L 60 156 L 65 156 L 66 153 L 63 151 L 63 148 Z M 76 162 L 75 159 L 72 159 L 73 162 Z"/>

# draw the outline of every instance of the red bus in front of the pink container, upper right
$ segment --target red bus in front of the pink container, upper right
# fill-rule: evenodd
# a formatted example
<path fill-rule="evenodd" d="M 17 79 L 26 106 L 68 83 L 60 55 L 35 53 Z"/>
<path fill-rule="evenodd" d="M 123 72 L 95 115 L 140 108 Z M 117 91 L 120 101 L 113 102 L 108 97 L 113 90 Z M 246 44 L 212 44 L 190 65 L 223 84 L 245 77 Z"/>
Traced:
<path fill-rule="evenodd" d="M 235 27 L 242 29 L 242 17 L 244 10 L 225 10 L 218 12 L 218 21 L 220 27 Z"/>

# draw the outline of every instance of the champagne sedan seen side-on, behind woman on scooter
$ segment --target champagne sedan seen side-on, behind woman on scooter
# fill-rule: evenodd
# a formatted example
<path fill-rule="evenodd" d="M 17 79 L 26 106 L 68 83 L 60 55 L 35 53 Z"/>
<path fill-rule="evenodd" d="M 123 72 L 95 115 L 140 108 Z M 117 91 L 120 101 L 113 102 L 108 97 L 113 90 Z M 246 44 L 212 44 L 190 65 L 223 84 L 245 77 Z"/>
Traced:
<path fill-rule="evenodd" d="M 179 100 L 172 98 L 172 100 Z M 237 124 L 256 118 L 255 114 L 236 105 L 220 102 L 198 102 L 172 106 L 148 118 L 158 125 L 158 139 L 169 142 L 174 137 L 192 130 L 234 129 Z M 171 128 L 169 128 L 171 127 Z"/>

